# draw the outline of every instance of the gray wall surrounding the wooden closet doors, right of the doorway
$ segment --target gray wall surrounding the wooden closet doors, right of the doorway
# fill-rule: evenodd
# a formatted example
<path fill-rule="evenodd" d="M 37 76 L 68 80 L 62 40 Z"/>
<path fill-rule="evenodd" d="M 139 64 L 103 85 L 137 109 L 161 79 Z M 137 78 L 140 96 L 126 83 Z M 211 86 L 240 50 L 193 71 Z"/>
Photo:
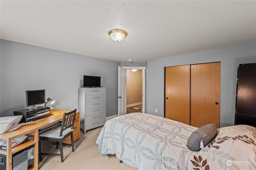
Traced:
<path fill-rule="evenodd" d="M 146 113 L 164 117 L 164 67 L 217 61 L 221 64 L 220 127 L 234 125 L 237 68 L 242 63 L 256 63 L 256 44 L 147 61 Z"/>

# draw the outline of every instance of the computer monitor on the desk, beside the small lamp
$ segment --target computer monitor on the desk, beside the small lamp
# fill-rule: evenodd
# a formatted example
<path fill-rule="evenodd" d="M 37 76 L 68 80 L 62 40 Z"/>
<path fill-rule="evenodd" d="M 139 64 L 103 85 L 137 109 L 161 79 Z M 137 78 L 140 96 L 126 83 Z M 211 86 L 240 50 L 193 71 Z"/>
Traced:
<path fill-rule="evenodd" d="M 26 107 L 45 103 L 45 90 L 27 90 Z"/>

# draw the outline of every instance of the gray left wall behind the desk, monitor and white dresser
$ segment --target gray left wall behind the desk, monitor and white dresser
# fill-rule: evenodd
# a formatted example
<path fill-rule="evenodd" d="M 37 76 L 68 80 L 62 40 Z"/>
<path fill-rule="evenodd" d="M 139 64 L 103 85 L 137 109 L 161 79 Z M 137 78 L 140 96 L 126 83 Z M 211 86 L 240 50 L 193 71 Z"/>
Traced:
<path fill-rule="evenodd" d="M 54 109 L 78 109 L 83 76 L 101 76 L 106 87 L 106 117 L 118 114 L 120 62 L 66 53 L 1 39 L 0 114 L 9 116 L 26 106 L 26 90 L 46 90 Z"/>

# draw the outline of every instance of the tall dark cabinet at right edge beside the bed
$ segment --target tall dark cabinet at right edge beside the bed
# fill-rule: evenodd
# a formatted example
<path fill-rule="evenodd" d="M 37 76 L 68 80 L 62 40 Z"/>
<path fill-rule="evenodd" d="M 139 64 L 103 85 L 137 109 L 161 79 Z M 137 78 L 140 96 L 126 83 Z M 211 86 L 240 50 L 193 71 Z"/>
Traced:
<path fill-rule="evenodd" d="M 239 64 L 235 125 L 256 127 L 256 63 Z"/>

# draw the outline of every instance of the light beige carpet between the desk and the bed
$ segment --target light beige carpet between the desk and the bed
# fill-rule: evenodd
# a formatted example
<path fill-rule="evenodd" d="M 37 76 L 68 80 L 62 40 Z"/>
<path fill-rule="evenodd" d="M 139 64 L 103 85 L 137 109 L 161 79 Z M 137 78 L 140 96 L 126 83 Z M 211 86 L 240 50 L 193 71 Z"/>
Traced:
<path fill-rule="evenodd" d="M 116 155 L 102 157 L 95 143 L 102 127 L 87 131 L 80 131 L 80 140 L 74 143 L 75 151 L 69 146 L 63 147 L 64 162 L 60 156 L 43 155 L 43 160 L 38 161 L 40 170 L 136 170 L 125 163 L 120 163 Z M 58 152 L 52 142 L 43 141 L 43 152 Z"/>

